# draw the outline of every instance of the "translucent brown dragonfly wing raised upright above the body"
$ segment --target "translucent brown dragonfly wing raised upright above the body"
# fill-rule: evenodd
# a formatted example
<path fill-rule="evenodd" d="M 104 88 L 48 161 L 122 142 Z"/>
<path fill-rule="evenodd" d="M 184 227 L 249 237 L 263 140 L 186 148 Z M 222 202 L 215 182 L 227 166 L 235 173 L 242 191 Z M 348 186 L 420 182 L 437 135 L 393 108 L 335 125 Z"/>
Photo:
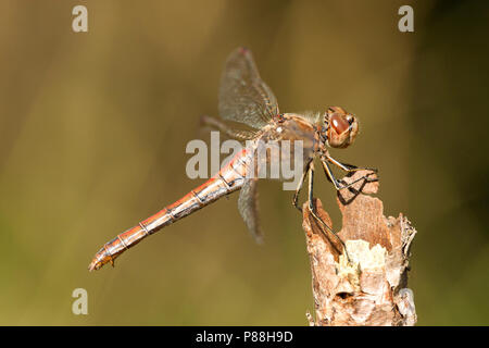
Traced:
<path fill-rule="evenodd" d="M 220 114 L 260 129 L 278 112 L 277 99 L 260 77 L 251 51 L 236 49 L 227 59 L 220 88 Z"/>

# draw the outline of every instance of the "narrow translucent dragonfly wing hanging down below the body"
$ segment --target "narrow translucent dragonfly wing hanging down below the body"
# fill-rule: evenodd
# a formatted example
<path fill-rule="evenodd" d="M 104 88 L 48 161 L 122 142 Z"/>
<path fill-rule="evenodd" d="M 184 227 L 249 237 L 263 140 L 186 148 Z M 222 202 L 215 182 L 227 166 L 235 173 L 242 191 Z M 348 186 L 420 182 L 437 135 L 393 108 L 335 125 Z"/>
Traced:
<path fill-rule="evenodd" d="M 256 184 L 256 178 L 248 178 L 244 182 L 239 192 L 238 210 L 254 240 L 258 244 L 263 244 L 263 233 L 258 214 Z"/>

